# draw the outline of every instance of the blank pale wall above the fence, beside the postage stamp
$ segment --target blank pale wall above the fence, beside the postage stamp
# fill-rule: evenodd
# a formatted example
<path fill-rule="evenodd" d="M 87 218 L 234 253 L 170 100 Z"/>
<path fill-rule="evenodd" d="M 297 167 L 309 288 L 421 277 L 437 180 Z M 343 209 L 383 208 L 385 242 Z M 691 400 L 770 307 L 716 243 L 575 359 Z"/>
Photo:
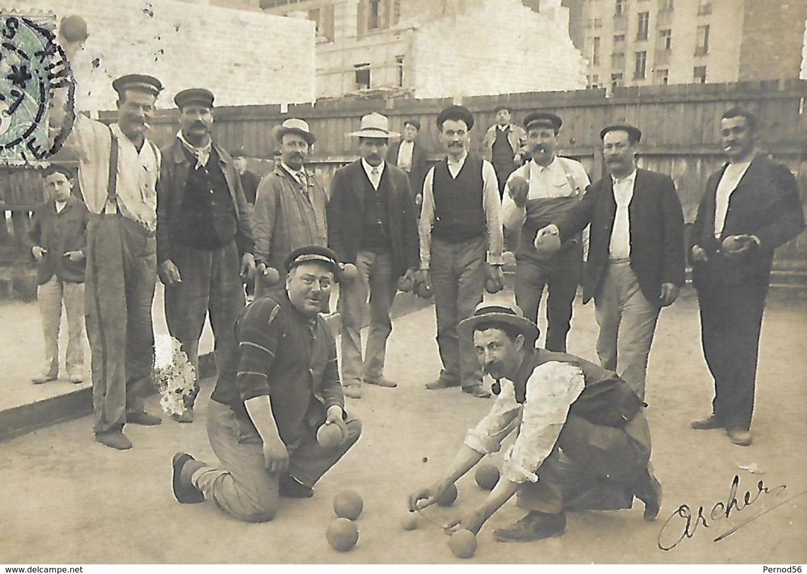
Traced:
<path fill-rule="evenodd" d="M 111 110 L 111 80 L 160 78 L 159 107 L 180 89 L 203 86 L 217 105 L 312 102 L 314 23 L 176 0 L 7 0 L 6 8 L 81 15 L 90 37 L 73 64 L 77 106 Z"/>

